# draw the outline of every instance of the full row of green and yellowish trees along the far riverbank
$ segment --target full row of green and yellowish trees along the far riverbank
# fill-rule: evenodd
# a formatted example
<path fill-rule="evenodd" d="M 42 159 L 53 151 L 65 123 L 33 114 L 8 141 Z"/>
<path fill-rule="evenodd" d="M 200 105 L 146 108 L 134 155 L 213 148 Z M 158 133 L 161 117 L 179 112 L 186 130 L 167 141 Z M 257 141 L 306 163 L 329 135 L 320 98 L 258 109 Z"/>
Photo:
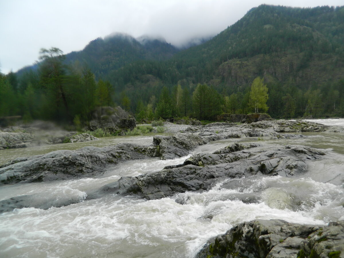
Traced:
<path fill-rule="evenodd" d="M 0 73 L 0 116 L 20 115 L 24 120 L 86 122 L 96 106 L 120 105 L 141 120 L 195 117 L 216 120 L 222 113 L 269 112 L 276 118 L 341 116 L 344 80 L 303 92 L 292 83 L 281 87 L 268 77 L 256 77 L 243 90 L 219 92 L 207 84 L 163 85 L 159 94 L 132 98 L 132 92 L 116 92 L 109 81 L 95 80 L 90 69 L 64 64 L 58 48 L 41 49 L 35 70 L 17 77 Z M 154 87 L 153 87 L 154 88 Z M 142 94 L 143 96 L 144 94 Z M 274 116 L 273 116 L 274 117 Z"/>

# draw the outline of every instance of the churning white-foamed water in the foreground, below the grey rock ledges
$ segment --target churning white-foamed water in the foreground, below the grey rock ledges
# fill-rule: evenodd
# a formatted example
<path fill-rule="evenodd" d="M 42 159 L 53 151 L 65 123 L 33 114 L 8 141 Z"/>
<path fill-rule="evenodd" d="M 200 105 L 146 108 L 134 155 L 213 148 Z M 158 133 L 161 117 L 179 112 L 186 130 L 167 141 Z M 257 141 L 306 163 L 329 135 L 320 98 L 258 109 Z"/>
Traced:
<path fill-rule="evenodd" d="M 338 197 L 343 194 L 340 186 L 273 176 L 235 179 L 232 181 L 240 187 L 222 188 L 230 181 L 220 182 L 203 193 L 188 192 L 161 200 L 111 195 L 61 208 L 24 208 L 4 213 L 0 215 L 0 255 L 192 257 L 208 238 L 225 233 L 237 223 L 278 218 L 325 224 L 326 218 L 318 217 L 314 211 L 337 213 L 336 209 L 335 216 L 343 216 L 339 215 L 343 212 L 342 199 Z M 305 187 L 315 203 L 291 210 L 270 207 L 265 201 L 225 199 L 244 192 L 259 195 L 272 186 L 284 190 Z M 177 203 L 178 199 L 185 200 L 185 204 Z"/>

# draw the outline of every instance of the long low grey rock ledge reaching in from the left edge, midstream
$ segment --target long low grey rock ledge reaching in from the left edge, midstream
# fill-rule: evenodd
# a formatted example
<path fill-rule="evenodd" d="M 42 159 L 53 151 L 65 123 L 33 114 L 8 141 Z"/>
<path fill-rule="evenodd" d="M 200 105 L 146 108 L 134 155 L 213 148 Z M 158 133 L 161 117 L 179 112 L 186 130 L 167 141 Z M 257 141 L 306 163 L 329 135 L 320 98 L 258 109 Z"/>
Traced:
<path fill-rule="evenodd" d="M 42 182 L 101 175 L 109 164 L 157 155 L 155 147 L 121 143 L 98 148 L 58 150 L 44 155 L 14 159 L 0 166 L 0 184 Z"/>

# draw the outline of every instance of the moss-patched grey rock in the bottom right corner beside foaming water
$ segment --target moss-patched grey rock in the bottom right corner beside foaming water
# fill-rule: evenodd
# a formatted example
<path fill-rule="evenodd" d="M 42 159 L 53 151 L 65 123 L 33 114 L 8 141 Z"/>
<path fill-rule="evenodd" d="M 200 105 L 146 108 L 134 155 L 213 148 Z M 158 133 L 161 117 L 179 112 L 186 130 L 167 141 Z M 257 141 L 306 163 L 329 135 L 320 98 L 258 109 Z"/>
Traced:
<path fill-rule="evenodd" d="M 344 221 L 321 226 L 257 219 L 209 239 L 196 257 L 344 257 L 343 252 Z"/>

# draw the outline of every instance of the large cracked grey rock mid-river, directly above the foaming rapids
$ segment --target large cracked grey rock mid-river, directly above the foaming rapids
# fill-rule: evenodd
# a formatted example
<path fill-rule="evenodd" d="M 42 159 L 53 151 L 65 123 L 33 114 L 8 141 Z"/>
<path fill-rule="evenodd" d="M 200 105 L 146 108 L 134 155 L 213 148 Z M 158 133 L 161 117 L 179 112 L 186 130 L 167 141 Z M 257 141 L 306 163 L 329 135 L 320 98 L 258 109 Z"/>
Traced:
<path fill-rule="evenodd" d="M 107 184 L 88 198 L 98 198 L 114 193 L 138 195 L 159 199 L 186 191 L 205 191 L 228 178 L 251 175 L 302 175 L 307 171 L 306 160 L 318 159 L 325 153 L 304 146 L 281 146 L 279 148 L 246 150 L 254 144 L 231 144 L 214 153 L 198 153 L 183 164 L 168 166 L 159 172 L 135 177 L 122 177 Z M 223 185 L 226 187 L 226 184 Z"/>

